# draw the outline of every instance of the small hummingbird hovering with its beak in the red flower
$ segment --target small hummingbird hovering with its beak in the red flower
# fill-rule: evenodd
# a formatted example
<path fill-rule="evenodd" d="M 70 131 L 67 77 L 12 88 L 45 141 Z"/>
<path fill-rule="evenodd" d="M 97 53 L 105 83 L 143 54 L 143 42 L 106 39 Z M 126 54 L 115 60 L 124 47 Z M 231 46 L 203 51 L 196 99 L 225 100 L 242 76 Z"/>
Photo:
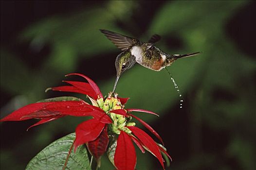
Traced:
<path fill-rule="evenodd" d="M 122 73 L 131 68 L 135 63 L 139 63 L 140 65 L 155 71 L 160 71 L 166 66 L 170 66 L 178 58 L 190 57 L 200 53 L 194 52 L 183 55 L 167 54 L 154 46 L 154 44 L 161 39 L 161 36 L 158 34 L 152 35 L 148 42 L 142 42 L 136 38 L 108 30 L 100 31 L 105 34 L 117 48 L 122 50 L 115 60 L 116 80 L 113 93 Z"/>

